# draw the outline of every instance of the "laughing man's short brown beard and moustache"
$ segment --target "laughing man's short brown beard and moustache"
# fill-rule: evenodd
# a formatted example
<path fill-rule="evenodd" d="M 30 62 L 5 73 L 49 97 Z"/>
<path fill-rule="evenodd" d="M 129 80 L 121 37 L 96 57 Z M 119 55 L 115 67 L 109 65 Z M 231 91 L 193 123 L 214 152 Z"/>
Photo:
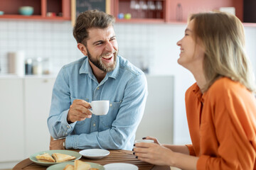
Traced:
<path fill-rule="evenodd" d="M 89 50 L 87 49 L 87 57 L 90 60 L 90 62 L 92 62 L 92 64 L 94 64 L 98 69 L 101 69 L 104 72 L 111 72 L 114 70 L 114 68 L 116 67 L 117 64 L 117 51 L 114 50 L 113 53 L 113 57 L 114 57 L 114 63 L 110 63 L 110 64 L 104 64 L 101 60 L 102 57 L 105 57 L 107 55 L 110 55 L 109 53 L 105 53 L 103 55 L 100 55 L 100 57 L 97 57 L 96 59 L 92 58 L 92 55 L 90 54 Z"/>

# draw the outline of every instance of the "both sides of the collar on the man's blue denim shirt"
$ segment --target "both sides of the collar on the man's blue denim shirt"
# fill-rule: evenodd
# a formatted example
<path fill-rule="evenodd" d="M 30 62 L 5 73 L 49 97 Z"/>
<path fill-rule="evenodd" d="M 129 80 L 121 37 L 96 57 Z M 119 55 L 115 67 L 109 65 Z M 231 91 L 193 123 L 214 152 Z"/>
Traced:
<path fill-rule="evenodd" d="M 118 73 L 119 73 L 119 67 L 120 67 L 119 66 L 119 56 L 117 55 L 116 67 L 114 68 L 113 71 L 107 72 L 106 76 L 107 77 L 112 77 L 113 79 L 116 79 L 117 76 L 118 76 Z M 88 60 L 87 56 L 85 56 L 85 60 L 82 63 L 82 66 L 79 69 L 79 74 L 91 74 L 91 75 L 93 75 L 92 67 L 90 67 L 90 63 L 89 63 L 89 60 Z"/>

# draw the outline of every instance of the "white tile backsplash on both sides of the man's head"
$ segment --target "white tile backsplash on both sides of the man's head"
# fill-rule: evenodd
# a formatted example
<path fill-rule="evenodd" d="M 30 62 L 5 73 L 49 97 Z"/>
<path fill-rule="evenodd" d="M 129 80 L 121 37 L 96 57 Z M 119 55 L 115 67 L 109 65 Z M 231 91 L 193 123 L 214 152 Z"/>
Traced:
<path fill-rule="evenodd" d="M 7 53 L 24 50 L 26 58 L 50 58 L 51 71 L 82 57 L 77 49 L 70 22 L 0 21 L 1 74 L 8 73 Z M 119 42 L 119 55 L 137 67 L 150 67 L 154 61 L 156 29 L 150 24 L 117 23 L 114 26 Z"/>

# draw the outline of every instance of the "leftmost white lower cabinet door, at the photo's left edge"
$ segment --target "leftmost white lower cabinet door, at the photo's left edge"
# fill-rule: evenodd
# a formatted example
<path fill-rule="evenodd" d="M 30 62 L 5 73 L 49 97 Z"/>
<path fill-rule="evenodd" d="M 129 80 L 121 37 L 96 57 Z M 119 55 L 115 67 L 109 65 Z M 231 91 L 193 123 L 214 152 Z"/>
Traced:
<path fill-rule="evenodd" d="M 23 79 L 0 79 L 0 94 L 1 164 L 24 159 Z"/>

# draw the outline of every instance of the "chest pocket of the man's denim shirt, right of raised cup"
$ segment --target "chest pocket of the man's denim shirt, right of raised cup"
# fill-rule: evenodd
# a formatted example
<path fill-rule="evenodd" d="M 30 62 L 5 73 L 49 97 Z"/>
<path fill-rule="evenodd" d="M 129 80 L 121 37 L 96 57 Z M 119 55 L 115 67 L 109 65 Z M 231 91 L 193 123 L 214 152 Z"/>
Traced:
<path fill-rule="evenodd" d="M 113 121 L 117 118 L 117 113 L 122 101 L 112 102 L 110 101 L 110 109 L 107 115 L 100 115 L 100 129 L 106 130 L 112 127 Z"/>

